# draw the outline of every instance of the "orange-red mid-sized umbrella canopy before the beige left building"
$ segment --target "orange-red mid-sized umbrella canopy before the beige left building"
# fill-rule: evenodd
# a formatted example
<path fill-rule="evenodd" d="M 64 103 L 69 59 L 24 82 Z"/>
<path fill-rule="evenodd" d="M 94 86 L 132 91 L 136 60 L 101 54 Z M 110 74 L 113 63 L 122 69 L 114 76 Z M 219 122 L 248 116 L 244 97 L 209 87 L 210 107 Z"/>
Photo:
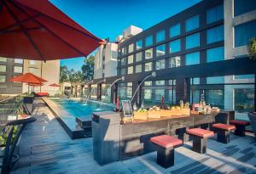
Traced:
<path fill-rule="evenodd" d="M 32 83 L 32 84 L 42 84 L 43 82 L 47 82 L 46 80 L 42 79 L 39 76 L 35 76 L 32 73 L 26 73 L 20 76 L 15 76 L 11 78 L 9 81 L 15 82 L 25 82 L 25 83 Z"/>

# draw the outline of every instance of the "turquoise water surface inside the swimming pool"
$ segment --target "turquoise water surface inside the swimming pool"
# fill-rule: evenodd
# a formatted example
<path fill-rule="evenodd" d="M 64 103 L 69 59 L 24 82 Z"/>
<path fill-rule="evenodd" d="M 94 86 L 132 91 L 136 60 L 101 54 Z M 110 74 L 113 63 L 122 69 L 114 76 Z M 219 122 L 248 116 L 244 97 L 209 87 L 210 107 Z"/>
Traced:
<path fill-rule="evenodd" d="M 52 101 L 74 117 L 90 117 L 93 112 L 113 110 L 114 108 L 113 104 L 102 104 L 102 108 L 99 109 L 100 102 L 96 101 L 87 101 L 87 104 L 69 99 L 52 99 Z"/>

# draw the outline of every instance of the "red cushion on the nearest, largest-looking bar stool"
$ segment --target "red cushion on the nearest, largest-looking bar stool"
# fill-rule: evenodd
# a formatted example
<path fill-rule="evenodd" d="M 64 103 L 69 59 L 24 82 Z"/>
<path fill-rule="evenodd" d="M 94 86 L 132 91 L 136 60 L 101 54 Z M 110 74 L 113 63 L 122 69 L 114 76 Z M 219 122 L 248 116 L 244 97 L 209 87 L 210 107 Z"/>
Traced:
<path fill-rule="evenodd" d="M 150 138 L 150 141 L 164 148 L 175 147 L 183 143 L 182 140 L 173 138 L 172 136 L 168 136 L 168 135 L 160 135 L 154 138 Z"/>

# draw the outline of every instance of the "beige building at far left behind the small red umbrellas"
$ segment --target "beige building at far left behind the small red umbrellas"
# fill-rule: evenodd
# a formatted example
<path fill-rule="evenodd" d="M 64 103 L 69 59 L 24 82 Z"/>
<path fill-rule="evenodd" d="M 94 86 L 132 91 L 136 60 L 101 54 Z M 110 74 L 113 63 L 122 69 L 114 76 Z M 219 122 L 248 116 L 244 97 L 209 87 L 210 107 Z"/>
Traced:
<path fill-rule="evenodd" d="M 10 78 L 31 72 L 47 80 L 42 87 L 34 87 L 35 92 L 47 92 L 54 95 L 58 89 L 49 87 L 51 83 L 59 83 L 60 60 L 51 60 L 46 63 L 37 60 L 8 59 L 0 57 L 0 94 L 17 95 L 27 92 L 27 84 L 11 82 Z M 30 87 L 32 89 L 32 87 Z"/>

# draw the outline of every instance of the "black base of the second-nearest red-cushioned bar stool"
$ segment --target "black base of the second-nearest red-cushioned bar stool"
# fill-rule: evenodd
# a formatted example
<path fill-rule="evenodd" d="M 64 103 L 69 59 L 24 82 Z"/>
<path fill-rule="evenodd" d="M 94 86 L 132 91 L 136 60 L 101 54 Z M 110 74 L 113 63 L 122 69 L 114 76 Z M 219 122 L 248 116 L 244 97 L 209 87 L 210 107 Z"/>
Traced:
<path fill-rule="evenodd" d="M 207 152 L 207 138 L 193 136 L 192 150 L 200 154 L 205 154 Z"/>

